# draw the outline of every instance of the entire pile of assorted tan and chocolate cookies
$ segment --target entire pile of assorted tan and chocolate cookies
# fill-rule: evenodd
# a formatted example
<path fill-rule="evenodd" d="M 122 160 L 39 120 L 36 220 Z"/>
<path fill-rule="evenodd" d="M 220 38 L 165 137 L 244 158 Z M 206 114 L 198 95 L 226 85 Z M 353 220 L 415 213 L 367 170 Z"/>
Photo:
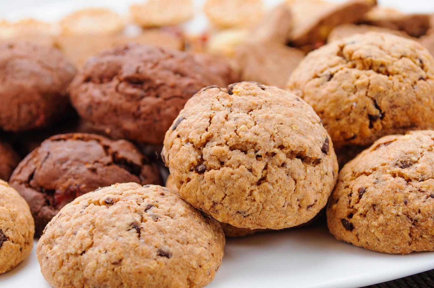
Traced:
<path fill-rule="evenodd" d="M 132 5 L 135 36 L 99 8 L 0 22 L 0 273 L 36 236 L 53 287 L 202 287 L 225 236 L 324 211 L 336 239 L 434 251 L 431 16 L 204 12 L 196 35 L 189 0 Z"/>

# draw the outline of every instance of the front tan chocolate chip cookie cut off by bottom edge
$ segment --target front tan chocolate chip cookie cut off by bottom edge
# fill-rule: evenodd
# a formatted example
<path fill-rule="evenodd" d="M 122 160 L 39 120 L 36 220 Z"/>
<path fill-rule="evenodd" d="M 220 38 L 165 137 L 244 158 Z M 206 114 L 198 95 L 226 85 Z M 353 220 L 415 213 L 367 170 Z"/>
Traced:
<path fill-rule="evenodd" d="M 60 210 L 39 239 L 57 287 L 202 287 L 224 254 L 220 225 L 160 186 L 115 184 Z"/>

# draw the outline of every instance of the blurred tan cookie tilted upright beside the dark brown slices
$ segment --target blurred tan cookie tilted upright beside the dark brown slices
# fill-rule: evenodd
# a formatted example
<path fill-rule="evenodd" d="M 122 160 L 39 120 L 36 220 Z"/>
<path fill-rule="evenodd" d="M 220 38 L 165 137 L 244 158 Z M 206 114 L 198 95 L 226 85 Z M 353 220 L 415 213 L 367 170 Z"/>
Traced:
<path fill-rule="evenodd" d="M 293 17 L 286 3 L 281 3 L 265 14 L 252 29 L 250 41 L 258 43 L 279 43 L 285 45 L 293 28 Z"/>

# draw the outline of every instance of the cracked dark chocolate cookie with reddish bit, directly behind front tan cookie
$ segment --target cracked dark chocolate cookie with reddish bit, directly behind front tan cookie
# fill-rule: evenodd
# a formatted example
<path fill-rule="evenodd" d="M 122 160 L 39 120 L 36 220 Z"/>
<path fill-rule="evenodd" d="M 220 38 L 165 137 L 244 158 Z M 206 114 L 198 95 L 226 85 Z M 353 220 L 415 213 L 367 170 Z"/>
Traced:
<path fill-rule="evenodd" d="M 50 137 L 27 155 L 10 177 L 30 205 L 36 235 L 76 197 L 113 183 L 161 183 L 158 168 L 132 143 L 95 134 Z"/>

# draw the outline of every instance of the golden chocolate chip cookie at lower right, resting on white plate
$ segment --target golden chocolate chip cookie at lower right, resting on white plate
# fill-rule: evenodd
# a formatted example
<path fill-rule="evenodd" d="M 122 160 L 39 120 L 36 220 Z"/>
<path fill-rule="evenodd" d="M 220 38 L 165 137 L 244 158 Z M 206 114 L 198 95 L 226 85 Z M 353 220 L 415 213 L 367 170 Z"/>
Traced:
<path fill-rule="evenodd" d="M 378 252 L 434 250 L 434 131 L 378 139 L 339 173 L 327 206 L 338 240 Z"/>

